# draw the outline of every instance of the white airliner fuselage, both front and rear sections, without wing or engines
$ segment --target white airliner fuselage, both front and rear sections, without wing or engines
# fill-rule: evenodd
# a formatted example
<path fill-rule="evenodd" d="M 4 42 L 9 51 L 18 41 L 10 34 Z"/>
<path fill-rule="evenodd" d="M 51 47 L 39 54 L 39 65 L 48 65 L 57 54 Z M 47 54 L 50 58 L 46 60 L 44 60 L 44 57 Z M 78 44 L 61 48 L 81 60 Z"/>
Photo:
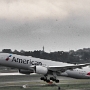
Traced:
<path fill-rule="evenodd" d="M 11 55 L 11 56 L 10 56 Z M 40 58 L 34 58 L 31 56 L 21 56 L 16 54 L 8 54 L 8 53 L 0 53 L 0 64 L 4 66 L 14 67 L 18 69 L 26 69 L 29 70 L 32 66 L 71 66 L 73 64 L 56 62 L 51 60 L 45 60 Z M 64 73 L 61 73 L 63 76 L 70 76 L 76 78 L 89 78 L 90 75 L 87 73 L 90 72 L 90 68 L 84 67 L 82 69 L 73 69 L 66 70 Z"/>

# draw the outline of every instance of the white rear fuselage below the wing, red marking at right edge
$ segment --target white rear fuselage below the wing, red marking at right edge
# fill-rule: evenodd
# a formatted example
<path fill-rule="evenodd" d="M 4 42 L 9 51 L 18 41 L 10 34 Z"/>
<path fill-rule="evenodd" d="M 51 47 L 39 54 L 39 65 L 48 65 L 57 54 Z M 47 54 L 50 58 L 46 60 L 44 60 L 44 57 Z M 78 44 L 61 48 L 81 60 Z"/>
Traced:
<path fill-rule="evenodd" d="M 90 66 L 76 68 L 73 70 L 66 70 L 63 73 L 58 74 L 58 76 L 71 77 L 76 79 L 90 79 Z"/>

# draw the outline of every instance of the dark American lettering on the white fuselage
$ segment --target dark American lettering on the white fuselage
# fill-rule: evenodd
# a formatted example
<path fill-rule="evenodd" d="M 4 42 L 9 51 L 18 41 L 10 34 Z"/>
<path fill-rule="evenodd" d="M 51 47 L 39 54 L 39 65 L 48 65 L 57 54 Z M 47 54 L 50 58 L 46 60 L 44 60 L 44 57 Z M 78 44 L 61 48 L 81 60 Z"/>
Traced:
<path fill-rule="evenodd" d="M 31 59 L 30 60 L 20 59 L 20 58 L 16 58 L 16 57 L 13 57 L 12 62 L 22 63 L 22 64 L 30 64 L 30 65 L 42 65 L 42 62 L 33 61 Z"/>

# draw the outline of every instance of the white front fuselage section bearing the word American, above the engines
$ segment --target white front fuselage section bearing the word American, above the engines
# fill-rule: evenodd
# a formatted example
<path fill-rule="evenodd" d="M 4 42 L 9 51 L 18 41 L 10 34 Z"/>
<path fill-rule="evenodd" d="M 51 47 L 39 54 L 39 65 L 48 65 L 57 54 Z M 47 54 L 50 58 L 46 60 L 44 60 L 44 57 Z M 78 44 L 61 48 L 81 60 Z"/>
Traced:
<path fill-rule="evenodd" d="M 31 56 L 21 56 L 16 54 L 11 54 L 11 57 L 9 57 L 9 60 L 6 60 L 10 54 L 8 53 L 0 53 L 0 64 L 9 66 L 9 67 L 15 67 L 20 69 L 29 69 L 32 66 L 70 66 L 72 64 L 67 64 L 63 62 L 55 62 L 51 60 L 45 60 L 40 58 L 34 58 Z"/>

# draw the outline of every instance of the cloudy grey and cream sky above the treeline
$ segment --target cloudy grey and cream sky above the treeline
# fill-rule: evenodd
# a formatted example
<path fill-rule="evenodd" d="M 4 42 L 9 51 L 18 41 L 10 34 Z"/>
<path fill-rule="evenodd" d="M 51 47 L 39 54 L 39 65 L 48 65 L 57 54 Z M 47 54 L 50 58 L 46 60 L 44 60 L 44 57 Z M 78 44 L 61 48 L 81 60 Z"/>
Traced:
<path fill-rule="evenodd" d="M 90 48 L 90 0 L 0 0 L 0 50 Z"/>

